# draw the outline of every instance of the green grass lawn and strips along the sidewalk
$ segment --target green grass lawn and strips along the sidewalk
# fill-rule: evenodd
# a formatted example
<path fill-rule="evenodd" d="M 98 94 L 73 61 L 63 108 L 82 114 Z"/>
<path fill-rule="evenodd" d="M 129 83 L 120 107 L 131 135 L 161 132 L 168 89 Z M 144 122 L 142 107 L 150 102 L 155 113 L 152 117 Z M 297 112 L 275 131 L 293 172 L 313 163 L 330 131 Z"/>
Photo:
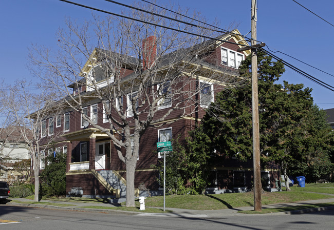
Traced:
<path fill-rule="evenodd" d="M 324 186 L 325 185 L 325 186 Z M 334 183 L 326 184 L 306 184 L 306 187 L 291 187 L 291 192 L 275 192 L 275 193 L 264 193 L 262 194 L 262 204 L 275 204 L 275 203 L 290 203 L 304 200 L 318 200 L 326 198 L 334 198 L 334 196 L 323 194 L 329 193 L 334 194 Z M 322 194 L 319 194 L 322 193 Z M 33 197 L 32 197 L 33 199 Z M 132 212 L 139 211 L 139 202 L 136 200 L 136 207 L 125 207 L 125 202 L 120 206 L 98 206 L 94 204 L 109 203 L 108 199 L 102 198 L 47 198 L 48 200 L 57 200 L 62 203 L 53 202 L 22 202 L 22 203 L 38 203 L 38 204 L 49 204 L 59 206 L 75 206 L 73 204 L 66 204 L 66 202 L 79 202 L 87 203 L 91 205 L 84 206 L 84 208 L 104 208 L 108 210 L 122 210 Z M 183 208 L 190 210 L 219 210 L 224 208 L 237 208 L 243 206 L 253 206 L 253 193 L 231 193 L 231 194 L 213 194 L 213 195 L 169 195 L 165 197 L 166 209 L 168 208 Z M 14 201 L 18 202 L 18 201 Z M 317 206 L 318 204 L 316 204 Z M 321 204 L 323 205 L 323 204 Z M 332 204 L 330 204 L 332 205 Z M 163 207 L 163 197 L 147 197 L 145 199 L 145 212 L 160 213 Z M 285 207 L 284 207 L 285 208 Z M 289 208 L 309 208 L 305 205 L 294 206 Z M 276 211 L 274 211 L 276 210 Z M 280 208 L 266 208 L 261 213 L 268 212 L 284 212 L 282 207 Z M 254 211 L 251 211 L 254 214 Z"/>

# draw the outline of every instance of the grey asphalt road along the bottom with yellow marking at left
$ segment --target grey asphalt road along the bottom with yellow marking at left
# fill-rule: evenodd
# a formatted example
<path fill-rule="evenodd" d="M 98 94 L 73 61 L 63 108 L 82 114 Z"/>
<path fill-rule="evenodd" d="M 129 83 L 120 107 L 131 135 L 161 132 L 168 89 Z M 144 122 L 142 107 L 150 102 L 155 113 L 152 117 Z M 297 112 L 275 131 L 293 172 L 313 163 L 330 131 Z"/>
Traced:
<path fill-rule="evenodd" d="M 0 205 L 0 229 L 333 229 L 334 210 L 301 215 L 245 215 L 215 218 L 138 216 Z M 15 221 L 15 222 L 10 222 Z"/>

